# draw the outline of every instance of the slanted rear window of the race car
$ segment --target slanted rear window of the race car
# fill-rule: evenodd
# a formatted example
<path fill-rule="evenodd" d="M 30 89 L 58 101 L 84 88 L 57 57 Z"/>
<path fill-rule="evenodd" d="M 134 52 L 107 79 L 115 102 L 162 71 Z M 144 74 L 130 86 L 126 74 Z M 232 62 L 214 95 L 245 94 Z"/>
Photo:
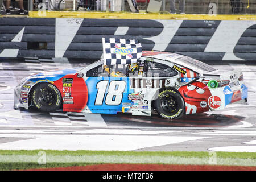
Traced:
<path fill-rule="evenodd" d="M 176 60 L 181 61 L 191 67 L 201 69 L 203 71 L 211 72 L 211 71 L 216 70 L 215 68 L 211 67 L 210 65 L 205 64 L 199 60 L 193 59 L 191 57 L 184 56 L 184 57 L 179 57 Z"/>

